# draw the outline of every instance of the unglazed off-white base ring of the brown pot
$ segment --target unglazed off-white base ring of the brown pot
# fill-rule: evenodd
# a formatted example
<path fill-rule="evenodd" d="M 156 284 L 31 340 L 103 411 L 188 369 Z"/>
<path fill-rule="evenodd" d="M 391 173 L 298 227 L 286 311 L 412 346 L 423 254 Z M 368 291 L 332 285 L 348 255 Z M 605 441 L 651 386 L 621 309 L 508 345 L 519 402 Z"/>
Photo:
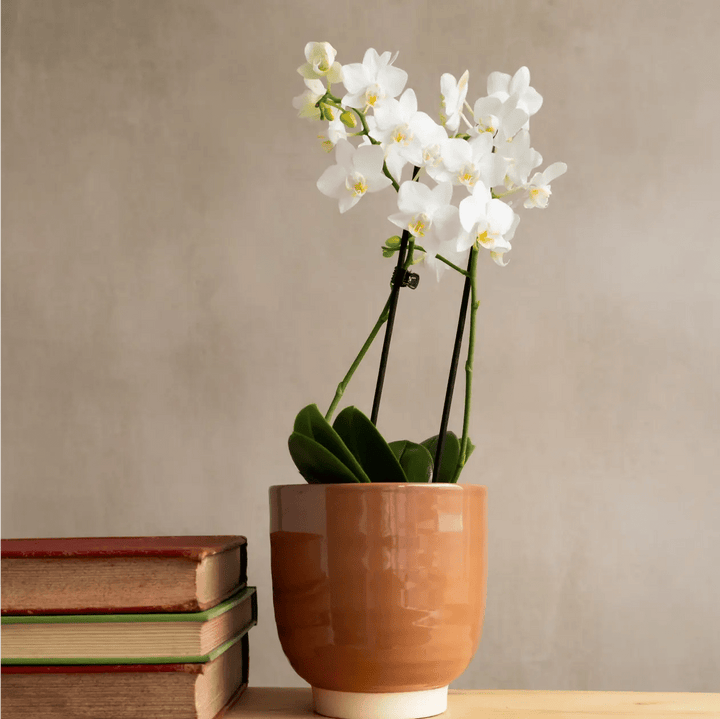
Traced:
<path fill-rule="evenodd" d="M 387 693 L 312 690 L 315 711 L 334 719 L 422 719 L 447 710 L 447 687 Z"/>

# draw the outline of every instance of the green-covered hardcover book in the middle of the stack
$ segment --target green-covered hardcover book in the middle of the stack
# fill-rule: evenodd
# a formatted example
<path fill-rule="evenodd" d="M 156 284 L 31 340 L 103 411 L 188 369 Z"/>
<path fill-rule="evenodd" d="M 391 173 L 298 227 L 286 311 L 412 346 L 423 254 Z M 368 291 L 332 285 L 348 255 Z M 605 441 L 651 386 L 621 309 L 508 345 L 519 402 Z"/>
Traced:
<path fill-rule="evenodd" d="M 168 614 L 2 616 L 2 665 L 210 661 L 257 624 L 247 587 L 212 609 Z"/>

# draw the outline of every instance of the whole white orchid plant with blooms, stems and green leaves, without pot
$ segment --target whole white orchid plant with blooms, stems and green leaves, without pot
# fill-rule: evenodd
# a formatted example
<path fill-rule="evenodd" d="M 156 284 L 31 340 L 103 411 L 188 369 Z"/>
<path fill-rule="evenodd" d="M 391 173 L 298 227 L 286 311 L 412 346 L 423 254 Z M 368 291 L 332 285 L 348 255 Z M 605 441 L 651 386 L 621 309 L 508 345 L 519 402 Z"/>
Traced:
<path fill-rule="evenodd" d="M 530 86 L 526 67 L 512 76 L 491 73 L 487 95 L 472 106 L 467 101 L 468 71 L 459 79 L 443 74 L 436 122 L 418 110 L 415 92 L 405 87 L 407 73 L 394 65 L 397 53 L 380 55 L 370 48 L 361 63 L 347 65 L 340 65 L 336 55 L 327 42 L 306 45 L 306 62 L 298 68 L 306 90 L 293 101 L 300 117 L 323 123 L 318 138 L 327 151 L 335 151 L 335 164 L 323 172 L 317 187 L 338 201 L 341 213 L 368 192 L 394 188 L 397 212 L 388 219 L 403 233 L 382 247 L 385 257 L 397 253 L 398 258 L 392 291 L 377 323 L 327 413 L 323 416 L 312 404 L 298 414 L 290 454 L 308 482 L 457 482 L 474 449 L 468 426 L 478 254 L 488 250 L 495 263 L 507 265 L 505 255 L 520 222 L 516 208 L 547 207 L 550 184 L 567 166 L 555 162 L 533 173 L 543 159 L 530 146 L 529 125 L 542 97 Z M 334 89 L 337 84 L 344 92 Z M 409 168 L 412 177 L 403 179 Z M 418 264 L 438 280 L 449 268 L 465 277 L 455 352 L 439 434 L 420 443 L 387 443 L 375 427 L 377 409 L 398 291 L 417 286 L 418 276 L 410 267 Z M 447 431 L 447 418 L 468 302 L 465 412 L 459 439 Z M 331 425 L 350 378 L 386 322 L 372 419 L 347 407 Z"/>

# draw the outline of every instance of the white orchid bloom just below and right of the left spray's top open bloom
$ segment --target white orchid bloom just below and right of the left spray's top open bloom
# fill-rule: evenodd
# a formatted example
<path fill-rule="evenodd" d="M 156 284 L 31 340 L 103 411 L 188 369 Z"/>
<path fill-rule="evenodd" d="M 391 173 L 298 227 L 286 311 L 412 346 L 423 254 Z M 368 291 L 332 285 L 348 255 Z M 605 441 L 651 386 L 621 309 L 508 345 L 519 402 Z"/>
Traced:
<path fill-rule="evenodd" d="M 375 110 L 370 136 L 382 143 L 388 171 L 397 182 L 408 162 L 422 165 L 423 149 L 417 131 L 425 118 L 432 122 L 429 115 L 418 112 L 415 91 L 411 89 L 405 90 L 399 100 L 387 100 Z"/>

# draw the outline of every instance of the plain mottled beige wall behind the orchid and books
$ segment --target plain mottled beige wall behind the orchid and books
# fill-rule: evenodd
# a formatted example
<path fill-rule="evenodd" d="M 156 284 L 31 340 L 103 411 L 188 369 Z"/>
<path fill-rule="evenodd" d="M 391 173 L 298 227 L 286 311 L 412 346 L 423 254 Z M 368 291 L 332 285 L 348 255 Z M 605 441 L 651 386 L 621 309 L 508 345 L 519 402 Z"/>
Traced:
<path fill-rule="evenodd" d="M 389 195 L 316 190 L 295 69 L 308 40 L 399 50 L 434 113 L 442 72 L 476 97 L 526 64 L 569 171 L 482 262 L 490 579 L 453 686 L 720 691 L 720 3 L 5 0 L 1 27 L 3 536 L 245 534 L 252 682 L 302 685 L 267 490 L 301 481 L 294 414 L 372 325 L 394 229 Z M 390 439 L 437 431 L 460 291 L 401 297 Z"/>

